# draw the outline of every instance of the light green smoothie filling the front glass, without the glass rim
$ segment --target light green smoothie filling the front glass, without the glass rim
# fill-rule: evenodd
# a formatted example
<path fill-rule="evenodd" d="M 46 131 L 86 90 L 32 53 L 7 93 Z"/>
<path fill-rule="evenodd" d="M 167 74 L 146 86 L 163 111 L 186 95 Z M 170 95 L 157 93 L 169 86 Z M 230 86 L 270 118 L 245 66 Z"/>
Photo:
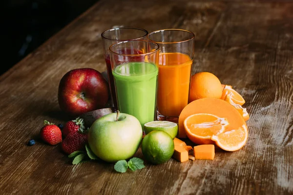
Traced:
<path fill-rule="evenodd" d="M 158 68 L 149 62 L 129 62 L 112 71 L 118 109 L 136 117 L 141 125 L 154 120 Z"/>

